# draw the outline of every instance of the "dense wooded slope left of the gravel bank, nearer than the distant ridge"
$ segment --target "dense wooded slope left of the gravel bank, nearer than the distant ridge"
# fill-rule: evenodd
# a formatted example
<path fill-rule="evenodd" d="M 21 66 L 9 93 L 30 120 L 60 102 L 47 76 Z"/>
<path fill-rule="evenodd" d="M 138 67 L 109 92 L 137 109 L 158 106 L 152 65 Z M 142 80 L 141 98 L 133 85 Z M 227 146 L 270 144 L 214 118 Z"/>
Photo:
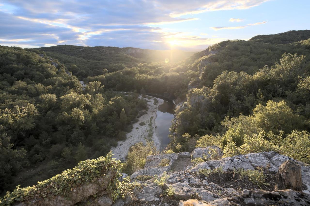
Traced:
<path fill-rule="evenodd" d="M 0 60 L 0 132 L 10 137 L 5 148 L 21 166 L 25 161 L 38 168 L 0 168 L 7 180 L 0 193 L 106 155 L 126 137 L 139 111 L 147 109 L 137 96 L 106 92 L 103 73 L 87 78 L 83 91 L 77 77 L 43 51 L 0 46 Z M 78 73 L 81 68 L 70 69 Z"/>

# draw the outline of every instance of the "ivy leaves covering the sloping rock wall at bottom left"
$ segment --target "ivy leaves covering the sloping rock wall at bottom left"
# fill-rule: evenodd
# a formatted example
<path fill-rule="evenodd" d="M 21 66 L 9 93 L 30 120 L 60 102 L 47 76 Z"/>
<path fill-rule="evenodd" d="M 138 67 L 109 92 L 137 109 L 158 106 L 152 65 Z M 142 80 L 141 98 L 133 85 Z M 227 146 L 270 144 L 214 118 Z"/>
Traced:
<path fill-rule="evenodd" d="M 16 202 L 29 203 L 33 199 L 52 198 L 57 195 L 70 198 L 69 195 L 73 188 L 79 187 L 84 183 L 96 182 L 98 178 L 105 176 L 109 170 L 114 171 L 115 174 L 115 176 L 111 176 L 109 190 L 118 192 L 114 189 L 121 169 L 121 162 L 113 159 L 112 153 L 110 152 L 106 157 L 81 161 L 73 169 L 65 170 L 51 179 L 38 182 L 37 185 L 24 188 L 17 186 L 14 191 L 7 192 L 3 199 L 0 200 L 0 204 L 11 205 Z"/>

